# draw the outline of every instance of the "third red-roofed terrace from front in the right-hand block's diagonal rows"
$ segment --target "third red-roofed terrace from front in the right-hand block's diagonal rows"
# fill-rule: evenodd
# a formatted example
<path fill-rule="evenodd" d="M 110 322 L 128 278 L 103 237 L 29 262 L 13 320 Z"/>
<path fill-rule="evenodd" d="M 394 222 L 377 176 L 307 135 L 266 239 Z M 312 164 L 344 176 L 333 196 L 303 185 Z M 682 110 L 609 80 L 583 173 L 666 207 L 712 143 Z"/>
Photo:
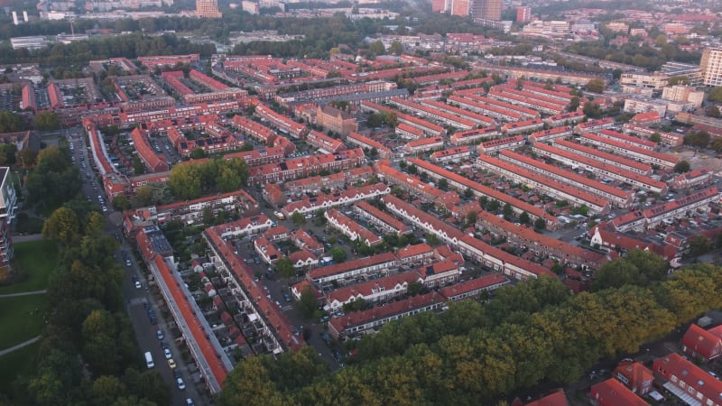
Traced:
<path fill-rule="evenodd" d="M 606 185 L 597 180 L 589 179 L 588 177 L 579 175 L 573 171 L 561 169 L 558 166 L 535 160 L 517 152 L 502 151 L 498 156 L 502 161 L 512 162 L 514 165 L 540 173 L 551 179 L 567 183 L 574 188 L 586 190 L 589 193 L 594 193 L 602 198 L 606 198 L 619 208 L 629 208 L 629 206 L 632 205 L 633 196 L 629 192 L 616 189 L 614 186 Z"/>

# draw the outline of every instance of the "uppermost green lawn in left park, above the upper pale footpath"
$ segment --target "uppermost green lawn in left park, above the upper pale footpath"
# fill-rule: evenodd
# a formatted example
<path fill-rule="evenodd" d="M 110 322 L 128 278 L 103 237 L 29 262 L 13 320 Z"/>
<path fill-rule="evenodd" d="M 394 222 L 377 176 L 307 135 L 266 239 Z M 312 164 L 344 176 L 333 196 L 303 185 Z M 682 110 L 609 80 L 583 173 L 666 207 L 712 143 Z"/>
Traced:
<path fill-rule="evenodd" d="M 58 246 L 52 241 L 30 241 L 14 246 L 15 261 L 20 264 L 27 279 L 0 287 L 0 295 L 23 291 L 42 291 L 48 287 L 51 272 L 58 260 Z M 3 326 L 0 324 L 0 326 Z"/>

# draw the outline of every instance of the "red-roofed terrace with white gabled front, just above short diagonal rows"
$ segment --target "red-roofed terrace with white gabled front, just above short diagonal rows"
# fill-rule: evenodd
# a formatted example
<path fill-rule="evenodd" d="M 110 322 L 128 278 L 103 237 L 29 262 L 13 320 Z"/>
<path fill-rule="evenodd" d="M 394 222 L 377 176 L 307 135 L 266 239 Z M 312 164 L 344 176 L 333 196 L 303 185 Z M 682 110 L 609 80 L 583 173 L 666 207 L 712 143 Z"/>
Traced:
<path fill-rule="evenodd" d="M 391 193 L 391 188 L 384 183 L 376 183 L 375 185 L 366 185 L 360 188 L 349 186 L 346 190 L 334 194 L 319 194 L 314 198 L 308 196 L 301 200 L 292 201 L 282 208 L 282 213 L 286 217 L 291 217 L 294 212 L 302 215 L 315 214 L 319 210 L 326 210 L 338 206 L 347 206 L 366 198 L 376 198 Z"/>

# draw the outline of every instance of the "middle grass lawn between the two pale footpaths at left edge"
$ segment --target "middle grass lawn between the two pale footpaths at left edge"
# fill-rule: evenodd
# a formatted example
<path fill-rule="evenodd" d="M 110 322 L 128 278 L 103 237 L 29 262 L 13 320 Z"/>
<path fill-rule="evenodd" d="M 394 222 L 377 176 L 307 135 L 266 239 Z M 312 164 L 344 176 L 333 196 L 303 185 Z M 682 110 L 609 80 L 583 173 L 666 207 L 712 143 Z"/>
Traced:
<path fill-rule="evenodd" d="M 0 349 L 39 335 L 44 306 L 45 295 L 0 299 Z"/>

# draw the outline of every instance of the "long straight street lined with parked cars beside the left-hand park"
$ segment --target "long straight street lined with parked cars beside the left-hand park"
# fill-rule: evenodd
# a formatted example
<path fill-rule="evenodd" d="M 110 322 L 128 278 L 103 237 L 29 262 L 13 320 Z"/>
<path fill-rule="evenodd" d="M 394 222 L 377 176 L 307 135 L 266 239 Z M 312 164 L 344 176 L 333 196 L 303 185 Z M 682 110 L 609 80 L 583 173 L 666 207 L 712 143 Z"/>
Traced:
<path fill-rule="evenodd" d="M 74 149 L 71 151 L 76 157 L 76 163 L 80 165 L 81 162 L 86 162 L 87 169 L 81 169 L 81 179 L 83 180 L 83 193 L 88 196 L 91 201 L 100 205 L 97 196 L 103 196 L 104 192 L 102 187 L 98 185 L 97 178 L 85 175 L 86 171 L 93 171 L 92 169 L 92 156 L 87 149 L 84 138 L 79 132 L 78 128 L 70 130 L 70 142 L 74 144 Z M 106 235 L 122 236 L 122 232 L 118 227 L 121 224 L 122 216 L 114 212 L 110 201 L 103 196 L 108 211 L 104 213 L 106 216 Z M 125 251 L 131 256 L 131 266 L 125 265 L 122 251 Z M 201 398 L 196 386 L 190 379 L 188 366 L 183 362 L 180 352 L 180 348 L 176 345 L 175 340 L 171 337 L 170 324 L 162 317 L 162 311 L 159 309 L 158 304 L 153 298 L 153 292 L 148 289 L 148 282 L 145 280 L 142 269 L 138 266 L 136 259 L 133 257 L 132 245 L 125 240 L 121 239 L 120 248 L 116 252 L 116 262 L 119 263 L 125 269 L 125 281 L 121 287 L 123 297 L 126 300 L 128 317 L 131 319 L 131 323 L 134 328 L 135 338 L 138 341 L 141 354 L 138 354 L 139 359 L 143 359 L 143 353 L 150 351 L 153 355 L 153 361 L 155 368 L 158 369 L 165 383 L 168 384 L 171 389 L 172 405 L 186 405 L 186 398 L 191 398 L 196 401 L 196 404 L 207 404 L 208 402 L 199 401 Z M 142 283 L 143 289 L 135 289 L 133 276 L 136 276 Z M 155 317 L 158 320 L 158 324 L 153 326 L 148 318 L 147 312 L 144 307 L 144 303 L 150 303 Z M 157 337 L 157 330 L 162 329 L 165 334 L 164 341 L 168 343 L 173 359 L 178 365 L 178 369 L 181 372 L 186 389 L 180 391 L 176 385 L 175 378 L 173 377 L 171 368 L 165 361 L 163 355 L 161 340 Z"/>

